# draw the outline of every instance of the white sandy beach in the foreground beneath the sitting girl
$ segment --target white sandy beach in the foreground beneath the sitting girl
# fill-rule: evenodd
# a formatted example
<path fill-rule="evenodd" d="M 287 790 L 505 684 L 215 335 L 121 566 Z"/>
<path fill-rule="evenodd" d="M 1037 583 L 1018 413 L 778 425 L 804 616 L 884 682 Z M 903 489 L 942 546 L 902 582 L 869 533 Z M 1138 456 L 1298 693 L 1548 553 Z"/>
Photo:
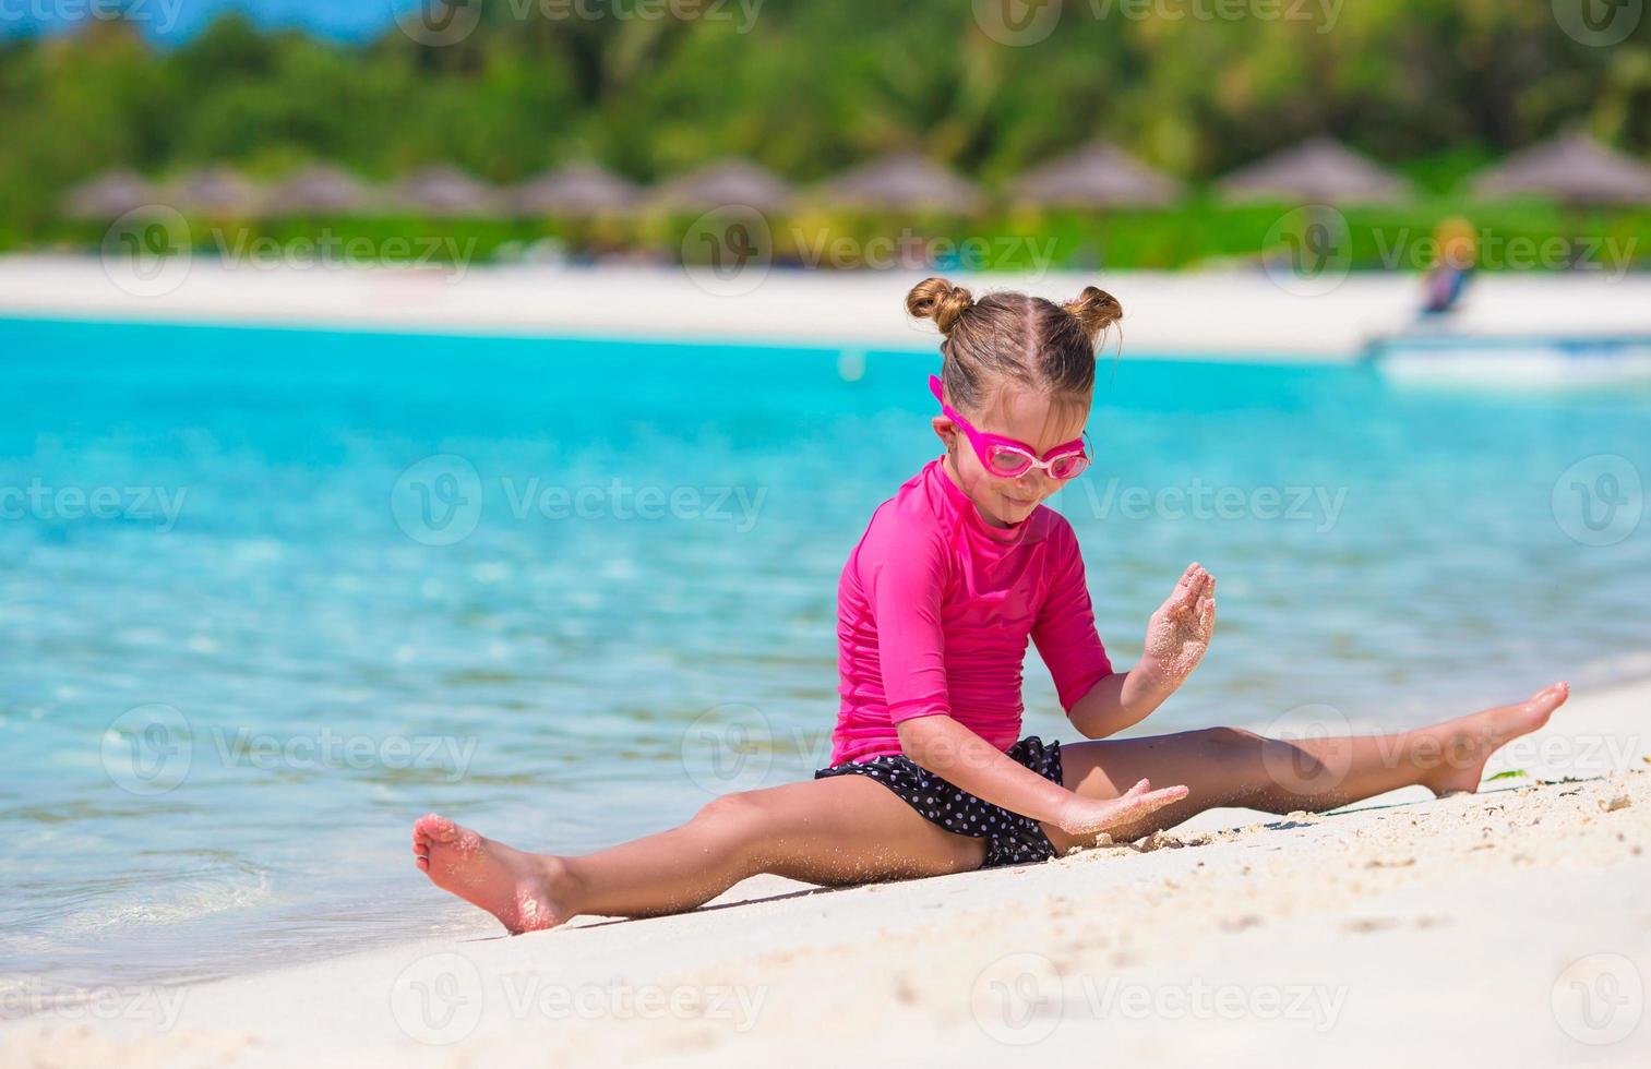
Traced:
<path fill-rule="evenodd" d="M 0 1029 L 8 1066 L 1516 1064 L 1651 1057 L 1651 683 L 1479 795 L 1205 813 L 1147 850 L 472 930 Z M 1573 777 L 1573 779 L 1567 779 Z M 1539 782 L 1542 780 L 1542 782 Z M 408 894 L 441 894 L 408 864 Z M 865 1049 L 875 1036 L 875 1049 Z"/>

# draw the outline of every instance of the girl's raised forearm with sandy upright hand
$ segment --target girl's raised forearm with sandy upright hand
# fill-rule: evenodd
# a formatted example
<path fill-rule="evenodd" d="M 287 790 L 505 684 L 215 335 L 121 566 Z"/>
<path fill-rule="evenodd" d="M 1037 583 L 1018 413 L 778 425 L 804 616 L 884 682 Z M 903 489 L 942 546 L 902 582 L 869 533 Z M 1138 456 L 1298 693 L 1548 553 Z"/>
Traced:
<path fill-rule="evenodd" d="M 1139 724 L 1199 666 L 1213 630 L 1215 576 L 1194 563 L 1147 620 L 1136 666 L 1095 683 L 1067 709 L 1071 724 L 1090 739 Z"/>

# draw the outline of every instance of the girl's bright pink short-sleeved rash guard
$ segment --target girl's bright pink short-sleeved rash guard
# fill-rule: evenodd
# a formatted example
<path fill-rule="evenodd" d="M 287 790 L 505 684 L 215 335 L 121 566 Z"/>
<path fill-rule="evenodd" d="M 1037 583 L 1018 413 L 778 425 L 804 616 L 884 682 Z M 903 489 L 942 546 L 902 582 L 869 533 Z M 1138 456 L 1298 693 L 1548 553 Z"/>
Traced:
<path fill-rule="evenodd" d="M 842 569 L 830 762 L 898 754 L 895 726 L 934 714 L 1007 751 L 1027 638 L 1068 713 L 1113 671 L 1071 525 L 1038 506 L 994 528 L 931 460 L 872 513 Z"/>

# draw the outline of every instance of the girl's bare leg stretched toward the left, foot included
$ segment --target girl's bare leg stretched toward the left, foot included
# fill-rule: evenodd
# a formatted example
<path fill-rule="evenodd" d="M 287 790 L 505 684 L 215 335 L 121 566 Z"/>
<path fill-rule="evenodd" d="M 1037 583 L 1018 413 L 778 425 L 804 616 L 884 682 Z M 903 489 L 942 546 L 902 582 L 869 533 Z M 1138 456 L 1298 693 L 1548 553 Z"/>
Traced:
<path fill-rule="evenodd" d="M 581 858 L 512 850 L 431 813 L 413 825 L 413 855 L 438 888 L 527 932 L 580 914 L 682 912 L 758 873 L 857 884 L 967 871 L 986 843 L 943 831 L 882 784 L 837 775 L 725 795 L 680 828 Z"/>

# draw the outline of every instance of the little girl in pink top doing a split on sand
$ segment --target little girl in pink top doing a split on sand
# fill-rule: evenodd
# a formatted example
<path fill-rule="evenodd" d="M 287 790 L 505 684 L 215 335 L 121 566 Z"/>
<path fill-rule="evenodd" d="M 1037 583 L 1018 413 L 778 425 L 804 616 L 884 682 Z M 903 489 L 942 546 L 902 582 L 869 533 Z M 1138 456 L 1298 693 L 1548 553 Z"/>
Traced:
<path fill-rule="evenodd" d="M 1071 526 L 1042 505 L 1090 464 L 1095 346 L 1123 310 L 1095 287 L 1067 305 L 976 302 L 943 279 L 918 284 L 906 308 L 944 335 L 930 389 L 946 452 L 872 515 L 842 571 L 830 767 L 578 858 L 512 850 L 433 813 L 413 826 L 413 855 L 436 886 L 527 932 L 580 914 L 693 909 L 758 873 L 814 884 L 938 876 L 1043 861 L 1103 831 L 1133 840 L 1218 805 L 1288 813 L 1410 785 L 1471 792 L 1493 751 L 1565 701 L 1555 683 L 1392 736 L 1109 737 L 1185 681 L 1215 625 L 1215 577 L 1190 564 L 1147 620 L 1141 660 L 1116 671 Z M 1019 737 L 1027 640 L 1073 729 L 1095 741 Z"/>

